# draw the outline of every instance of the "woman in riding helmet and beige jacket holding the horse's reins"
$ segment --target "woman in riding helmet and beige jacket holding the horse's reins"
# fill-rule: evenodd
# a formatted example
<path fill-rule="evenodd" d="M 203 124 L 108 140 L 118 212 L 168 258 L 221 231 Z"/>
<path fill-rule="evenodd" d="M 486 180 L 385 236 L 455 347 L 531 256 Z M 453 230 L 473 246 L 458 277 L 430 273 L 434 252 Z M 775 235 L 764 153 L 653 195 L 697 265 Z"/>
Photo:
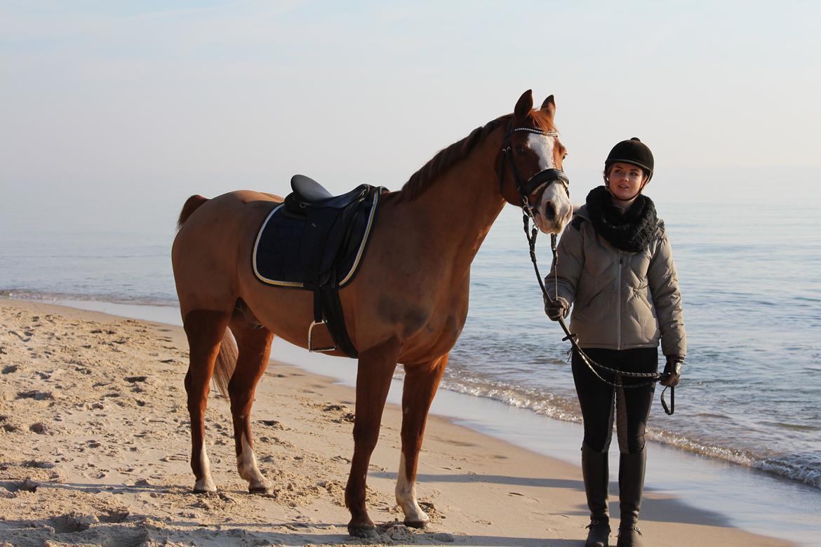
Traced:
<path fill-rule="evenodd" d="M 595 362 L 623 372 L 657 372 L 658 344 L 667 358 L 662 385 L 677 385 L 686 353 L 681 293 L 670 242 L 653 201 L 642 191 L 653 176 L 653 153 L 633 138 L 604 162 L 604 185 L 564 230 L 544 283 L 545 312 L 557 321 L 571 304 L 571 332 Z M 641 545 L 638 518 L 644 489 L 644 428 L 655 386 L 599 372 L 574 352 L 573 380 L 585 422 L 581 468 L 590 509 L 585 545 L 608 545 L 608 449 L 615 414 L 619 450 L 617 545 Z M 615 412 L 614 412 L 615 409 Z"/>

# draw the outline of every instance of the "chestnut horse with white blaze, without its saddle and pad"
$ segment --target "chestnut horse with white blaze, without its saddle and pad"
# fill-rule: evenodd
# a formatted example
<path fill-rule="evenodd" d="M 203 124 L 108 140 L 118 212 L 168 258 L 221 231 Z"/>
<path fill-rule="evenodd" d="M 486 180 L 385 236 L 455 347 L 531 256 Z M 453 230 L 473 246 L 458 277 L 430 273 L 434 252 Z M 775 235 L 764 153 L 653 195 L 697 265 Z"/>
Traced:
<path fill-rule="evenodd" d="M 397 503 L 406 525 L 428 521 L 416 502 L 416 467 L 430 403 L 467 317 L 470 263 L 505 202 L 524 205 L 545 232 L 560 232 L 571 217 L 555 112 L 553 95 L 534 110 L 528 90 L 512 115 L 473 130 L 437 153 L 401 191 L 383 194 L 364 262 L 340 291 L 348 335 L 359 351 L 345 490 L 351 535 L 374 535 L 365 480 L 397 362 L 405 367 Z M 190 344 L 195 492 L 216 490 L 204 443 L 212 375 L 231 398 L 239 473 L 251 492 L 268 488 L 253 451 L 251 404 L 273 335 L 307 347 L 314 303 L 311 291 L 264 285 L 251 269 L 257 230 L 279 203 L 275 195 L 247 190 L 213 199 L 195 195 L 180 214 L 172 262 Z"/>

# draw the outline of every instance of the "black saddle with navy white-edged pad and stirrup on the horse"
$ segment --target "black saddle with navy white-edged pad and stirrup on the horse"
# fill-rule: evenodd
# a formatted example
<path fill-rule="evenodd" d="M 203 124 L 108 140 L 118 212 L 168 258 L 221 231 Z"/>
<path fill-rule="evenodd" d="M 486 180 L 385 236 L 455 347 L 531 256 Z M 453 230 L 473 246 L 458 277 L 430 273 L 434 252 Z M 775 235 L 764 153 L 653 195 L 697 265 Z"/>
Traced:
<path fill-rule="evenodd" d="M 358 353 L 348 337 L 339 289 L 354 279 L 365 256 L 383 187 L 359 185 L 334 196 L 305 175 L 291 178 L 291 194 L 265 218 L 257 233 L 253 269 L 266 285 L 314 293 L 308 349 Z M 315 326 L 325 325 L 333 347 L 314 348 Z"/>

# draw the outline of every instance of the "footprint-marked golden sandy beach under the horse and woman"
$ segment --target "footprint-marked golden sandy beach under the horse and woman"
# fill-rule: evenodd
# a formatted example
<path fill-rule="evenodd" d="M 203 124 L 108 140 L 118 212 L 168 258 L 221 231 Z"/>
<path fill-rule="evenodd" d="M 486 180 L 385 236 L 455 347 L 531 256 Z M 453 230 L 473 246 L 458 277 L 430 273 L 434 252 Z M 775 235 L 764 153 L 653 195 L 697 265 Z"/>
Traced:
<path fill-rule="evenodd" d="M 0 322 L 0 545 L 584 543 L 578 467 L 438 417 L 417 486 L 432 522 L 403 526 L 392 405 L 369 472 L 380 535 L 351 538 L 342 498 L 353 390 L 273 361 L 253 414 L 273 490 L 247 493 L 227 400 L 212 391 L 206 432 L 219 490 L 195 495 L 179 327 L 15 300 L 0 301 Z M 611 504 L 617 514 L 616 496 Z M 789 545 L 652 492 L 640 524 L 648 545 Z"/>

